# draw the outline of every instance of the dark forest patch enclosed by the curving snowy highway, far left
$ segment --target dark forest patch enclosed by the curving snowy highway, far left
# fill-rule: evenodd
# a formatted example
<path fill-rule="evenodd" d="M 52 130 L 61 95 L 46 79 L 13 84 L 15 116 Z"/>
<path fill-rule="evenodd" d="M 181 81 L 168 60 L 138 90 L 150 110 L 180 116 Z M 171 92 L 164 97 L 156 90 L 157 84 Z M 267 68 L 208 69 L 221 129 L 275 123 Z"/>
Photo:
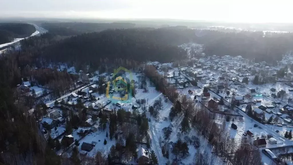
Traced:
<path fill-rule="evenodd" d="M 0 23 L 0 44 L 28 37 L 35 31 L 35 26 L 27 23 Z"/>

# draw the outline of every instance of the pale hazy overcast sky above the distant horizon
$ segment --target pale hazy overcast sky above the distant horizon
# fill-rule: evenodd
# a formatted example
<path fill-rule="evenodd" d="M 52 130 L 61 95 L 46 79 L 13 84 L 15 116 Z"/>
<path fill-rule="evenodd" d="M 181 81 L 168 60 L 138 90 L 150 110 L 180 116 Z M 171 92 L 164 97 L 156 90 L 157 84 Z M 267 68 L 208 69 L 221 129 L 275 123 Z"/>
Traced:
<path fill-rule="evenodd" d="M 293 0 L 0 0 L 2 17 L 293 23 Z"/>

